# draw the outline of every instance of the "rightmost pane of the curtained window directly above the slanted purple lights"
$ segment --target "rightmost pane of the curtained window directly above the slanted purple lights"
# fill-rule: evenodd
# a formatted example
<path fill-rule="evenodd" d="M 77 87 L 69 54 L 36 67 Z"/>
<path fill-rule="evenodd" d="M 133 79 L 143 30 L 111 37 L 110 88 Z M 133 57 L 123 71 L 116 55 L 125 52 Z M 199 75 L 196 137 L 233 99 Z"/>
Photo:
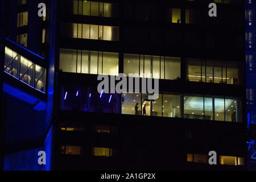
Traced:
<path fill-rule="evenodd" d="M 103 73 L 106 75 L 118 75 L 118 53 L 103 52 Z"/>

